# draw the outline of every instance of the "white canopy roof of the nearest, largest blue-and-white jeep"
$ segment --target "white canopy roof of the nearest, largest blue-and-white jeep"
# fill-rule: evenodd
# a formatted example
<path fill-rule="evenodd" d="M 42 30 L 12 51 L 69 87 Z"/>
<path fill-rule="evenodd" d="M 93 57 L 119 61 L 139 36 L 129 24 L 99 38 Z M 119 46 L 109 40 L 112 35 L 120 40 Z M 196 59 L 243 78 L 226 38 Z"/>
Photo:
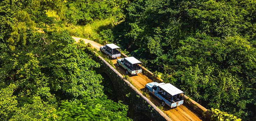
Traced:
<path fill-rule="evenodd" d="M 169 94 L 171 94 L 172 96 L 174 96 L 175 94 L 184 93 L 183 91 L 176 88 L 175 86 L 173 86 L 170 83 L 162 84 L 159 87 L 162 88 L 163 90 L 165 90 L 166 92 L 168 92 Z"/>

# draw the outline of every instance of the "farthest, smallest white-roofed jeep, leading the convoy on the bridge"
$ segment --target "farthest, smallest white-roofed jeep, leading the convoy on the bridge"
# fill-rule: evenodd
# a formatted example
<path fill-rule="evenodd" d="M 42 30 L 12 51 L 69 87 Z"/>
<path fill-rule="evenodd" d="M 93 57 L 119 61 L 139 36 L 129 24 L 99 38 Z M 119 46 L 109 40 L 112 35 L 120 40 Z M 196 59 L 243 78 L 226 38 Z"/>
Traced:
<path fill-rule="evenodd" d="M 121 56 L 121 49 L 115 44 L 106 44 L 99 47 L 99 51 L 104 52 L 108 55 L 108 58 L 117 58 Z"/>

